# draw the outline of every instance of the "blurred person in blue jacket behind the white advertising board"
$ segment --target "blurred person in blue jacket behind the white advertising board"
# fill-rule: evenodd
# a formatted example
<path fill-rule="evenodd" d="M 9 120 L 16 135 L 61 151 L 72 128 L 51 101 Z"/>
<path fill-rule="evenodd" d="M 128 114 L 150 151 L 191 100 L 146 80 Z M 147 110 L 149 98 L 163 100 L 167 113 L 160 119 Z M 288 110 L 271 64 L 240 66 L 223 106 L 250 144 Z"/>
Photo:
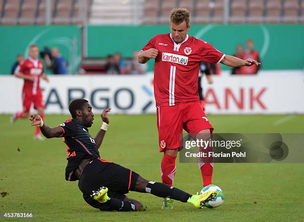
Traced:
<path fill-rule="evenodd" d="M 51 58 L 48 54 L 44 55 L 47 68 L 52 70 L 53 74 L 67 74 L 67 61 L 60 55 L 58 48 L 51 50 Z"/>

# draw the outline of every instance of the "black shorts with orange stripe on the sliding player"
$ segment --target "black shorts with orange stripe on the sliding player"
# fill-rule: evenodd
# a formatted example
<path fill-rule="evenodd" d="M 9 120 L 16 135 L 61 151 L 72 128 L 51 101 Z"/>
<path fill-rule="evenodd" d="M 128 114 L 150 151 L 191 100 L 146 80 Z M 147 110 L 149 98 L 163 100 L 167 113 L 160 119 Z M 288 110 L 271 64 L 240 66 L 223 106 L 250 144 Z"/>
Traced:
<path fill-rule="evenodd" d="M 109 189 L 108 196 L 123 199 L 124 194 L 134 190 L 139 174 L 116 163 L 103 162 L 100 159 L 88 163 L 79 178 L 78 187 L 84 195 L 100 187 Z"/>

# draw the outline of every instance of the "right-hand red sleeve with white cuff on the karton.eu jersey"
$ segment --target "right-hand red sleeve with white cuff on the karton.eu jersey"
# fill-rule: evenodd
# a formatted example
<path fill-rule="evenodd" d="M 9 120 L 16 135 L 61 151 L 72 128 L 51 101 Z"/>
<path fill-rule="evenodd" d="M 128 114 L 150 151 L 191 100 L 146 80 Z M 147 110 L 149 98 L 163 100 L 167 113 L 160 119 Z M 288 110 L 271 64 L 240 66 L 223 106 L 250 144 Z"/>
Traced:
<path fill-rule="evenodd" d="M 215 49 L 211 44 L 202 41 L 201 60 L 206 63 L 220 63 L 226 56 Z"/>

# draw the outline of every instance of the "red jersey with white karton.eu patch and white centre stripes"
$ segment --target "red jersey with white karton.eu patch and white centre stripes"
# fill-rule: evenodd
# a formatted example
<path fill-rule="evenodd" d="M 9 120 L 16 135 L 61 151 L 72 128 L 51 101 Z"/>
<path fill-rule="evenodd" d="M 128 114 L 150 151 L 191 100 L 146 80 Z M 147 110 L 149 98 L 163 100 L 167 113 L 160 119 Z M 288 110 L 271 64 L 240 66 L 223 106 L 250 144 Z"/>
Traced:
<path fill-rule="evenodd" d="M 171 34 L 155 35 L 143 48 L 158 50 L 154 66 L 156 106 L 199 101 L 198 74 L 201 62 L 220 63 L 225 54 L 205 41 L 186 36 L 176 44 Z"/>

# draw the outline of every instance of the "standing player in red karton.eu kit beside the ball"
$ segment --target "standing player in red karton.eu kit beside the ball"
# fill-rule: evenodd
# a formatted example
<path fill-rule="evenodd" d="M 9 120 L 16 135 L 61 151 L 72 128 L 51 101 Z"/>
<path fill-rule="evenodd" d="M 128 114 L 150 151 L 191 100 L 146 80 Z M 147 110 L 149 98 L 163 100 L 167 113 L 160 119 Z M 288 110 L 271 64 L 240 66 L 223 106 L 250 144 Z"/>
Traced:
<path fill-rule="evenodd" d="M 172 186 L 183 129 L 196 140 L 212 138 L 213 126 L 200 105 L 197 90 L 200 63 L 222 63 L 230 67 L 259 64 L 253 59 L 225 55 L 206 41 L 189 36 L 190 13 L 186 8 L 172 9 L 169 22 L 171 33 L 155 35 L 139 53 L 138 61 L 147 63 L 155 59 L 159 151 L 164 152 L 161 179 Z M 211 184 L 212 161 L 199 159 L 199 167 L 204 186 Z M 164 199 L 162 208 L 172 208 L 172 201 Z"/>

